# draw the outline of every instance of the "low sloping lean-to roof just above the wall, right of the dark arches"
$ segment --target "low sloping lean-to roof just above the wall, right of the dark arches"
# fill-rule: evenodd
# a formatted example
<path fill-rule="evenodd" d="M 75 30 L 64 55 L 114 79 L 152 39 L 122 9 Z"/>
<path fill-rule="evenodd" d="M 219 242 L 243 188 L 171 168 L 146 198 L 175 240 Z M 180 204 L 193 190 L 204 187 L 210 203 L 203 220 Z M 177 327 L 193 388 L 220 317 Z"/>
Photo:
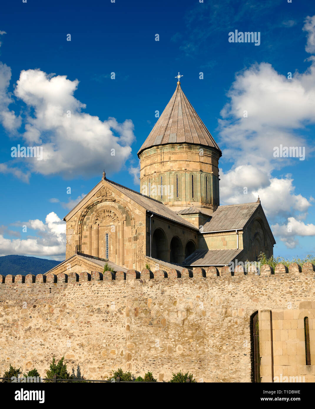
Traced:
<path fill-rule="evenodd" d="M 207 250 L 200 249 L 185 258 L 183 265 L 228 265 L 243 249 Z"/>

